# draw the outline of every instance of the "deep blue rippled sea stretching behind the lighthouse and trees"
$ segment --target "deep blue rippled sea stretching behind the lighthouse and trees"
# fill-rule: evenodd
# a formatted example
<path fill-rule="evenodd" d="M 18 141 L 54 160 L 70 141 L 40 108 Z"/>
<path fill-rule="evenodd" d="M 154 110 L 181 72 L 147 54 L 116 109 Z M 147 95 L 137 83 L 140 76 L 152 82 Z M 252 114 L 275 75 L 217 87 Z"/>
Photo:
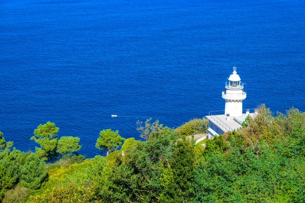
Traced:
<path fill-rule="evenodd" d="M 81 138 L 137 120 L 169 127 L 224 110 L 232 67 L 243 108 L 305 111 L 305 2 L 0 1 L 0 130 L 22 151 L 39 124 Z M 111 115 L 116 114 L 117 118 Z"/>

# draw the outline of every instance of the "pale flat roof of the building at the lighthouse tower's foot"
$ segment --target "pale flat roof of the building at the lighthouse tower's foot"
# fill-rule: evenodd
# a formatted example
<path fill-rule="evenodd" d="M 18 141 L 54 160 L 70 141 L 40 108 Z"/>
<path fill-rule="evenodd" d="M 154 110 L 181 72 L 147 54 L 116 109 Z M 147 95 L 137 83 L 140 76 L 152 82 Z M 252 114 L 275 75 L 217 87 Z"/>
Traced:
<path fill-rule="evenodd" d="M 250 116 L 253 118 L 254 113 L 250 113 Z M 217 125 L 224 132 L 232 131 L 234 129 L 240 128 L 241 123 L 246 119 L 247 114 L 242 114 L 241 116 L 230 116 L 229 121 L 227 121 L 227 116 L 224 114 L 221 115 L 210 115 L 205 116 L 210 122 Z"/>

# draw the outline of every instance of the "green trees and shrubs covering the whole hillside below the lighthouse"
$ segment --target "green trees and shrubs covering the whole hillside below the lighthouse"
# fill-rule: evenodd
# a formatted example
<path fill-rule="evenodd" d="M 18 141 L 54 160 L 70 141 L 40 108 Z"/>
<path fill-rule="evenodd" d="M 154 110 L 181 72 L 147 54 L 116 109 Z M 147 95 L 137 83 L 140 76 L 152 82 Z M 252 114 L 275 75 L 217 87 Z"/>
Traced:
<path fill-rule="evenodd" d="M 36 153 L 11 150 L 13 143 L 0 133 L 0 198 L 35 203 L 305 199 L 305 114 L 297 109 L 274 117 L 262 105 L 243 128 L 197 145 L 189 136 L 206 132 L 205 119 L 176 129 L 151 119 L 142 124 L 138 130 L 145 141 L 127 139 L 121 150 L 118 131 L 102 130 L 96 146 L 107 156 L 85 160 L 77 154 L 79 138 L 57 139 L 54 123 L 35 130 L 41 146 Z"/>

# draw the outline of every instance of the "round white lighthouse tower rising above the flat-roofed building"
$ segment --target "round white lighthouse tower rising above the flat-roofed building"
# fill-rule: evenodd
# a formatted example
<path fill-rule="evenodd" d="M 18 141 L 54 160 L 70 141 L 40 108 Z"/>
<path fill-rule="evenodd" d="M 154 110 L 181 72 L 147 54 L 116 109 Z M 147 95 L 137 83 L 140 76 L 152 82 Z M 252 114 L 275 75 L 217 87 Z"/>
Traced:
<path fill-rule="evenodd" d="M 243 84 L 235 66 L 233 73 L 227 79 L 226 90 L 222 92 L 222 97 L 226 100 L 225 115 L 235 117 L 242 115 L 242 100 L 247 97 L 247 93 L 243 91 Z"/>

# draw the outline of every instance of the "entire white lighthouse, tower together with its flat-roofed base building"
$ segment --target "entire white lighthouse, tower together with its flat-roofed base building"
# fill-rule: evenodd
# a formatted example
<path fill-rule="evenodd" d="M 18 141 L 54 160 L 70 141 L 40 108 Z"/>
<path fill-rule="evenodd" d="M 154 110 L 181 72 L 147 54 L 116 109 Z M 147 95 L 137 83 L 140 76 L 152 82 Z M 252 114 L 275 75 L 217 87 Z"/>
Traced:
<path fill-rule="evenodd" d="M 227 79 L 225 88 L 226 90 L 222 92 L 222 97 L 226 101 L 224 113 L 214 115 L 214 112 L 210 112 L 206 116 L 209 138 L 240 128 L 248 115 L 254 117 L 254 113 L 250 113 L 249 109 L 246 111 L 242 109 L 242 101 L 246 99 L 247 93 L 243 91 L 243 84 L 237 75 L 236 67 L 233 67 L 233 73 Z M 220 111 L 216 112 L 220 113 Z"/>

